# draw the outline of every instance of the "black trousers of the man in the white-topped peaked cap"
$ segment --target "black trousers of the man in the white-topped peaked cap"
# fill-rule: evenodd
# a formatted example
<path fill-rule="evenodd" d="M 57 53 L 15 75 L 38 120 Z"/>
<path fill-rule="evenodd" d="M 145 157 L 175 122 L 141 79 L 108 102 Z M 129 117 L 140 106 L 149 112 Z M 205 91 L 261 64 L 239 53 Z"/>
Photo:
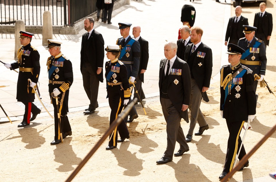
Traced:
<path fill-rule="evenodd" d="M 55 120 L 55 140 L 60 140 L 60 130 L 59 130 L 59 124 L 58 124 L 58 112 L 60 113 L 60 120 L 61 120 L 61 131 L 62 133 L 66 133 L 71 131 L 71 126 L 67 117 L 68 112 L 68 99 L 69 99 L 69 90 L 67 90 L 64 94 L 63 102 L 60 105 L 60 101 L 62 99 L 62 94 L 60 93 L 58 95 L 58 107 L 59 111 L 56 105 L 56 99 L 52 99 L 52 104 L 54 106 L 54 120 Z M 51 97 L 51 96 L 50 96 Z"/>

